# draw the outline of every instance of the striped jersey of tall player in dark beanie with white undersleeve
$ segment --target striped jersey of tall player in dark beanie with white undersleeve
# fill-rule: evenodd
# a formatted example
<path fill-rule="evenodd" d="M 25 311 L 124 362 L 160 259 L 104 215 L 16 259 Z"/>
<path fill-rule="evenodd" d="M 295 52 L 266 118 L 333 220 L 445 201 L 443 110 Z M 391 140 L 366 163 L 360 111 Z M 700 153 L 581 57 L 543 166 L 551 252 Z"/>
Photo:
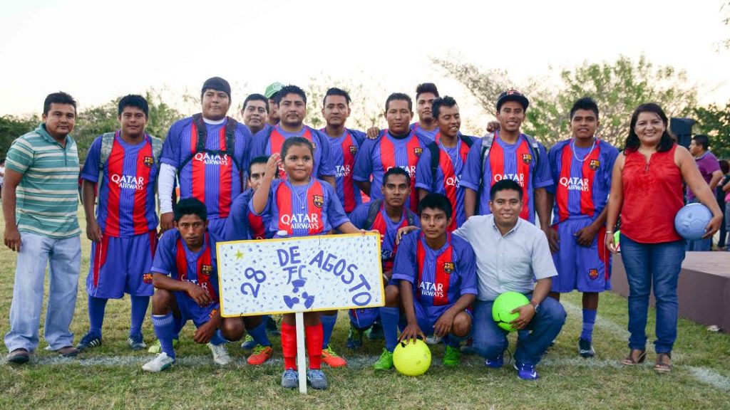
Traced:
<path fill-rule="evenodd" d="M 228 118 L 220 124 L 205 123 L 205 149 L 223 153 L 196 152 L 198 130 L 192 117 L 172 124 L 162 146 L 161 161 L 178 170 L 180 199 L 199 199 L 208 210 L 208 219 L 228 217 L 233 198 L 242 192 L 245 183 L 251 134 L 246 125 L 236 125 L 230 158 L 226 154 L 227 122 Z"/>

